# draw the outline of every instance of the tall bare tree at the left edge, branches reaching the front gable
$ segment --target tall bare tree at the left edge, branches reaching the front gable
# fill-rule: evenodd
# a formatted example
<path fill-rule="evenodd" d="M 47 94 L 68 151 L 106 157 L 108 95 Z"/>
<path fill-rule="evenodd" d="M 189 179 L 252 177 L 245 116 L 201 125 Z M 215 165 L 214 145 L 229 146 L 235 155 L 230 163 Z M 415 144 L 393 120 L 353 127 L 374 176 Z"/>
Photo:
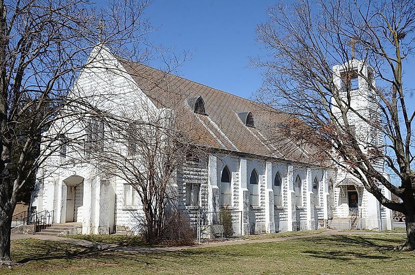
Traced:
<path fill-rule="evenodd" d="M 43 134 L 63 118 L 102 114 L 91 100 L 71 95 L 79 72 L 92 61 L 91 50 L 101 42 L 119 56 L 141 62 L 152 57 L 151 45 L 145 43 L 152 29 L 142 18 L 147 5 L 130 0 L 102 8 L 84 0 L 1 1 L 0 262 L 11 262 L 11 218 L 26 179 L 66 144 L 61 142 L 64 132 Z M 23 124 L 25 131 L 16 131 Z M 16 150 L 11 181 L 5 164 Z"/>

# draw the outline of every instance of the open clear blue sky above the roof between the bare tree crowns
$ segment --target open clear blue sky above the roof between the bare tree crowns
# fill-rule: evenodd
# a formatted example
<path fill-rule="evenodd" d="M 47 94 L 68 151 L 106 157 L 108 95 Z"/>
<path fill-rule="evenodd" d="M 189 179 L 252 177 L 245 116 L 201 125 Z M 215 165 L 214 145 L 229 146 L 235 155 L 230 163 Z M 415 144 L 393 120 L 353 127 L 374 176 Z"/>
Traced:
<path fill-rule="evenodd" d="M 155 0 L 146 10 L 160 29 L 150 40 L 180 54 L 192 53 L 178 74 L 249 98 L 261 85 L 260 72 L 248 68 L 249 56 L 264 55 L 255 41 L 256 26 L 267 20 L 273 0 Z M 155 65 L 157 63 L 150 63 Z"/>

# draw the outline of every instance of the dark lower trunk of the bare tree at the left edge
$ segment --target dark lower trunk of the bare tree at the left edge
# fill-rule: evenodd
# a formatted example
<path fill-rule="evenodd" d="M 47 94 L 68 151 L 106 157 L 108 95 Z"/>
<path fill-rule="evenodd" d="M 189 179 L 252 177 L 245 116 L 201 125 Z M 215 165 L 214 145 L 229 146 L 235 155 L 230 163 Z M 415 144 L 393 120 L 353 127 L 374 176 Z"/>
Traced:
<path fill-rule="evenodd" d="M 0 207 L 0 263 L 11 264 L 10 227 L 13 212 L 11 207 Z"/>

